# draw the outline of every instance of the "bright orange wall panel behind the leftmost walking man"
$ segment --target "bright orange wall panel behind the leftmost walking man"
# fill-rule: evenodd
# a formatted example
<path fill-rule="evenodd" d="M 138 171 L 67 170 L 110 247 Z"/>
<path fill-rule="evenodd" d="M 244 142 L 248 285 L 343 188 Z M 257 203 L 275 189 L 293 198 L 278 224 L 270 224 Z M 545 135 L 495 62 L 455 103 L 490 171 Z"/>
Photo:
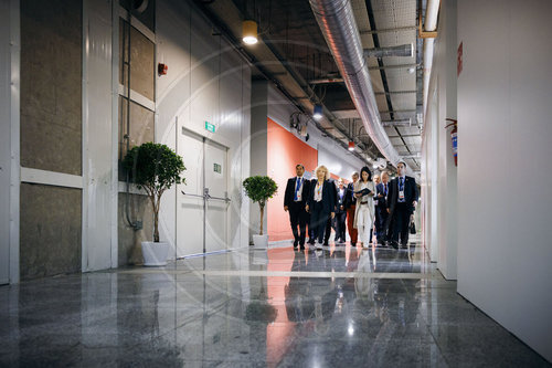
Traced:
<path fill-rule="evenodd" d="M 278 192 L 266 206 L 267 233 L 270 241 L 294 239 L 289 214 L 284 211 L 287 179 L 295 176 L 297 164 L 302 164 L 307 171 L 316 169 L 318 151 L 270 118 L 267 129 L 267 172 L 278 185 Z"/>

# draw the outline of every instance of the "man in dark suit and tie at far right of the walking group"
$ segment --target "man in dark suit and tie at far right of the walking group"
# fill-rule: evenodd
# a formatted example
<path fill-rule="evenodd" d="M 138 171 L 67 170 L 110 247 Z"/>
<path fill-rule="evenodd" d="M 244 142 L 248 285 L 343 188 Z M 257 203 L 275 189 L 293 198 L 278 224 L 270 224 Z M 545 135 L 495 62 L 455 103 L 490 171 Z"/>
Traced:
<path fill-rule="evenodd" d="M 406 164 L 399 161 L 396 165 L 396 178 L 389 186 L 388 225 L 393 222 L 391 234 L 391 245 L 394 249 L 399 248 L 399 234 L 401 234 L 401 245 L 406 248 L 408 243 L 408 225 L 411 215 L 417 204 L 418 192 L 416 180 L 405 175 Z"/>

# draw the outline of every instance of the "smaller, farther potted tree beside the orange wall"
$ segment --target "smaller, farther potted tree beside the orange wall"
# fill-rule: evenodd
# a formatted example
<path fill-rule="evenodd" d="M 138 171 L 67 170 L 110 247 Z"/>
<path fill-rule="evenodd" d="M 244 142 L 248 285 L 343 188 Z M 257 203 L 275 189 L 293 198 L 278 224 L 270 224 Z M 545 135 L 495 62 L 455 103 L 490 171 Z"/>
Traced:
<path fill-rule="evenodd" d="M 268 235 L 263 234 L 263 219 L 266 201 L 274 197 L 278 190 L 276 182 L 267 176 L 250 177 L 243 181 L 245 194 L 253 201 L 258 202 L 261 209 L 261 231 L 253 235 L 255 248 L 265 249 L 268 245 Z"/>

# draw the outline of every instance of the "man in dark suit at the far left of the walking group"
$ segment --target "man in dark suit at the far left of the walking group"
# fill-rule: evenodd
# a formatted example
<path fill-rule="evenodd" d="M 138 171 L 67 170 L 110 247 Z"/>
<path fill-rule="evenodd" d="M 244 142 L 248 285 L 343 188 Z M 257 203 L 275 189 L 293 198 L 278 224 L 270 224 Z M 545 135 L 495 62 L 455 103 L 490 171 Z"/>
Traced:
<path fill-rule="evenodd" d="M 301 164 L 295 166 L 296 177 L 287 180 L 284 194 L 284 211 L 289 211 L 289 222 L 294 232 L 294 248 L 300 245 L 305 249 L 305 235 L 307 232 L 308 213 L 305 211 L 310 194 L 310 181 L 305 179 L 305 167 Z M 299 227 L 299 232 L 297 232 Z"/>

